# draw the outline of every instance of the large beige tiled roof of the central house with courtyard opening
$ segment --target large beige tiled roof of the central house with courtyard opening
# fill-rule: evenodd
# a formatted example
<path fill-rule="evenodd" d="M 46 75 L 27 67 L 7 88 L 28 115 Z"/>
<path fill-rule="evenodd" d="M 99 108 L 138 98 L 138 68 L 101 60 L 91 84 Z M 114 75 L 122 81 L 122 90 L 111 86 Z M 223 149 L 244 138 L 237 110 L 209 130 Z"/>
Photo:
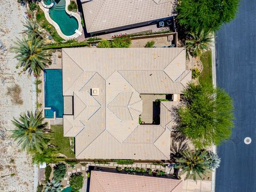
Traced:
<path fill-rule="evenodd" d="M 171 111 L 179 102 L 161 103 L 160 125 L 139 125 L 139 94 L 181 93 L 191 79 L 185 54 L 183 48 L 62 49 L 63 95 L 74 96 L 63 132 L 76 138 L 76 158 L 169 159 Z"/>

